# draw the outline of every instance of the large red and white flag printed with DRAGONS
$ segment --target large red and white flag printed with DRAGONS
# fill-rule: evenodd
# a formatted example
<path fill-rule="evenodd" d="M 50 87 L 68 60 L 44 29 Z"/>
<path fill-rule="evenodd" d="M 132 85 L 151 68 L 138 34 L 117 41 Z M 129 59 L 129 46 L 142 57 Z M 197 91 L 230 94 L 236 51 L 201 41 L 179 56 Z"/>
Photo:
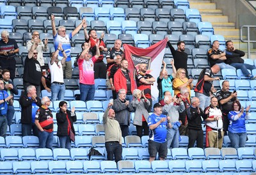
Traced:
<path fill-rule="evenodd" d="M 161 65 L 164 57 L 166 43 L 167 40 L 164 39 L 146 49 L 133 47 L 127 44 L 123 45 L 125 59 L 127 59 L 129 63 L 129 71 L 132 73 L 132 75 L 134 75 L 134 80 L 140 64 L 146 64 L 147 73 L 152 75 L 157 80 L 157 77 L 159 77 L 159 73 L 161 72 Z M 157 100 L 157 82 L 154 82 L 154 85 L 151 86 L 151 95 L 152 100 Z"/>

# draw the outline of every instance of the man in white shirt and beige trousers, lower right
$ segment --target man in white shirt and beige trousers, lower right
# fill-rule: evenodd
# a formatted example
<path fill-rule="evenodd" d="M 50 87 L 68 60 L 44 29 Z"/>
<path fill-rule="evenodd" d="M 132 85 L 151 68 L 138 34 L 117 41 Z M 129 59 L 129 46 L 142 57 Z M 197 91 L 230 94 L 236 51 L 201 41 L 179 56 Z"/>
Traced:
<path fill-rule="evenodd" d="M 221 149 L 224 137 L 223 121 L 216 96 L 212 96 L 211 105 L 205 108 L 204 113 L 206 115 L 206 147 Z"/>

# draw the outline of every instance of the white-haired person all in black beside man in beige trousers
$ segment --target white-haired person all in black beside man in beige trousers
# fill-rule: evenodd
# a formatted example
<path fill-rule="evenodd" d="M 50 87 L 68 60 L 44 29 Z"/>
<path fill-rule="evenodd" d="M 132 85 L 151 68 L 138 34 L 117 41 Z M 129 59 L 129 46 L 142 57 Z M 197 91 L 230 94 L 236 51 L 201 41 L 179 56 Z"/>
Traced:
<path fill-rule="evenodd" d="M 188 148 L 194 148 L 195 142 L 196 147 L 204 148 L 204 132 L 202 130 L 202 121 L 204 120 L 205 114 L 199 107 L 200 100 L 197 97 L 191 99 L 191 106 L 186 109 L 188 117 Z"/>

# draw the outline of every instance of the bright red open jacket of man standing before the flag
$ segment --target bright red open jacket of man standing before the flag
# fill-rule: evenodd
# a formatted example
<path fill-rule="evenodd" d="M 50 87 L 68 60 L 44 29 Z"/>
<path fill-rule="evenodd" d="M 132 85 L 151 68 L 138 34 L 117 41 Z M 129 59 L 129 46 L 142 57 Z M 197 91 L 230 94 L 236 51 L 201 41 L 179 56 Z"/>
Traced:
<path fill-rule="evenodd" d="M 129 73 L 129 77 L 131 79 L 131 93 L 132 93 L 132 91 L 134 90 L 134 79 L 131 73 Z M 125 78 L 125 75 L 122 72 L 122 70 L 119 68 L 114 75 L 114 86 L 115 86 L 116 92 L 118 92 L 119 89 L 125 89 L 125 91 L 127 92 L 126 83 L 127 83 L 127 80 Z"/>

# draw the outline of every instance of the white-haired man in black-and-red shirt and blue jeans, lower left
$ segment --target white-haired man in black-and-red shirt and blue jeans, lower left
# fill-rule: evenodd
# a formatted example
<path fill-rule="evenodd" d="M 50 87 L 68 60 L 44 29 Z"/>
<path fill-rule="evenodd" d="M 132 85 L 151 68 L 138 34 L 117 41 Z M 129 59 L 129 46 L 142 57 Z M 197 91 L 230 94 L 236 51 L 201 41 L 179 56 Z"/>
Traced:
<path fill-rule="evenodd" d="M 35 125 L 39 130 L 39 148 L 52 149 L 53 141 L 53 116 L 49 109 L 51 100 L 44 96 L 41 100 L 42 106 L 36 110 Z"/>

